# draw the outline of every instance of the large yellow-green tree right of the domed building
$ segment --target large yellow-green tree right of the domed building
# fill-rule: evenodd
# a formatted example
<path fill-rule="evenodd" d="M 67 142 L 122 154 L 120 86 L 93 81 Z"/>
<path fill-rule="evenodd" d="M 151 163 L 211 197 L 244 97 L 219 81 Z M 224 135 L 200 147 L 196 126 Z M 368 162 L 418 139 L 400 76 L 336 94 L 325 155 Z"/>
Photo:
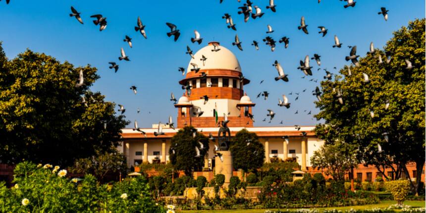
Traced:
<path fill-rule="evenodd" d="M 390 62 L 386 55 L 391 55 Z M 405 60 L 414 68 L 406 69 Z M 403 26 L 383 50 L 359 62 L 359 67 L 341 69 L 334 81 L 321 82 L 323 95 L 316 102 L 320 108 L 316 118 L 325 123 L 315 131 L 328 144 L 355 145 L 365 164 L 381 172 L 390 167 L 396 179 L 402 172 L 409 175 L 406 163 L 414 161 L 419 172 L 412 188 L 420 192 L 425 163 L 425 19 Z M 363 73 L 370 82 L 363 81 Z M 343 104 L 338 102 L 338 93 Z M 382 152 L 378 152 L 379 145 Z"/>

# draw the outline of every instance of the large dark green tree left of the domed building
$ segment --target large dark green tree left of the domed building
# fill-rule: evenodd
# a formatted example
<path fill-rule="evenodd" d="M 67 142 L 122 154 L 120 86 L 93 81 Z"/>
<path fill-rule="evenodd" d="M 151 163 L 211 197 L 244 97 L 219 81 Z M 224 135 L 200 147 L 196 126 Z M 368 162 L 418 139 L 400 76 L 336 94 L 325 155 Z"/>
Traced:
<path fill-rule="evenodd" d="M 1 162 L 68 166 L 118 145 L 127 123 L 113 103 L 89 90 L 99 78 L 95 67 L 74 67 L 30 50 L 7 60 L 0 45 L 0 70 Z M 80 70 L 84 85 L 76 87 Z"/>

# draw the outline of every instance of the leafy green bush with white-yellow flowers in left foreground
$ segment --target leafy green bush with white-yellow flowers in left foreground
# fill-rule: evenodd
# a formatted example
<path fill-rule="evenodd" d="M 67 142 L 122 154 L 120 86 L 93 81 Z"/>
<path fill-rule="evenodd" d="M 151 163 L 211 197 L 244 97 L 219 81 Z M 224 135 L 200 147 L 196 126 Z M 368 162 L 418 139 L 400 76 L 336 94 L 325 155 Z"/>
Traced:
<path fill-rule="evenodd" d="M 19 163 L 15 187 L 0 184 L 2 212 L 164 212 L 155 204 L 143 176 L 113 184 L 98 184 L 88 174 L 83 179 L 66 178 L 66 170 L 46 164 Z"/>

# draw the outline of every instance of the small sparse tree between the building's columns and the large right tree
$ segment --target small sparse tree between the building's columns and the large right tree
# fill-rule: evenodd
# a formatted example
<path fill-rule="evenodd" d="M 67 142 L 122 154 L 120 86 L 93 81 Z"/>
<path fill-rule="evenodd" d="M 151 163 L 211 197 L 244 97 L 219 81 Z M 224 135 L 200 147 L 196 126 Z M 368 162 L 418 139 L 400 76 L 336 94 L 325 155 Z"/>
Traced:
<path fill-rule="evenodd" d="M 358 163 L 351 146 L 343 143 L 325 144 L 315 151 L 311 158 L 314 168 L 320 168 L 335 181 L 344 181 L 345 174 Z"/>

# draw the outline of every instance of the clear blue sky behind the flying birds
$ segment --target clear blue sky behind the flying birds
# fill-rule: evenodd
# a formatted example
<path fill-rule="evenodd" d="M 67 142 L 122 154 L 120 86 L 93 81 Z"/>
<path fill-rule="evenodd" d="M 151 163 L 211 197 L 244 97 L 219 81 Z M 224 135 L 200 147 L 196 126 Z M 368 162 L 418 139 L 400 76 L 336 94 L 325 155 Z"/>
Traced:
<path fill-rule="evenodd" d="M 299 60 L 318 53 L 320 67 L 337 72 L 333 67 L 339 69 L 349 64 L 344 60 L 350 51 L 347 45 L 357 45 L 358 53 L 364 56 L 370 42 L 382 48 L 393 31 L 410 20 L 425 17 L 425 0 L 357 0 L 355 7 L 346 9 L 345 2 L 339 0 L 322 0 L 320 4 L 317 0 L 275 0 L 275 13 L 265 8 L 268 2 L 254 0 L 254 5 L 259 5 L 265 15 L 244 23 L 243 16 L 237 14 L 243 2 L 237 0 L 223 0 L 221 4 L 219 0 L 11 0 L 8 5 L 3 0 L 0 1 L 0 41 L 9 59 L 29 48 L 76 66 L 97 67 L 101 78 L 91 90 L 106 95 L 107 101 L 124 105 L 126 118 L 132 122 L 138 120 L 142 127 L 151 127 L 159 121 L 165 123 L 169 115 L 176 119 L 177 110 L 169 96 L 173 92 L 179 98 L 183 93 L 178 84 L 182 75 L 177 68 L 188 65 L 186 46 L 196 52 L 209 41 L 218 41 L 235 53 L 244 76 L 251 80 L 244 89 L 256 103 L 255 126 L 315 125 L 318 121 L 312 115 L 318 109 L 311 91 L 320 85 L 325 72 L 317 71 L 319 66 L 312 60 L 314 75 L 302 79 L 304 74 L 296 69 Z M 69 17 L 71 5 L 81 12 L 84 25 Z M 377 14 L 381 6 L 389 10 L 388 21 Z M 236 32 L 226 27 L 221 18 L 224 13 L 231 14 Z M 107 17 L 106 30 L 99 32 L 90 18 L 93 14 Z M 147 40 L 134 30 L 138 16 L 146 25 Z M 297 29 L 301 16 L 305 16 L 309 25 L 309 35 Z M 177 42 L 166 36 L 169 28 L 165 22 L 176 24 L 182 33 Z M 275 31 L 270 36 L 276 41 L 283 36 L 290 38 L 288 49 L 278 45 L 271 52 L 262 42 L 267 35 L 267 24 Z M 328 29 L 325 37 L 318 34 L 318 26 Z M 204 38 L 201 45 L 190 42 L 194 30 Z M 231 45 L 236 33 L 243 52 Z M 132 49 L 123 42 L 125 35 L 133 38 Z M 332 48 L 334 35 L 343 43 L 341 49 Z M 259 51 L 250 45 L 253 40 L 260 43 Z M 131 61 L 120 61 L 120 68 L 114 73 L 108 69 L 108 62 L 118 62 L 121 47 Z M 289 82 L 274 81 L 277 75 L 271 65 L 274 60 L 289 74 Z M 309 81 L 312 78 L 319 79 L 318 83 Z M 261 80 L 265 82 L 259 84 Z M 138 87 L 137 95 L 129 89 L 131 85 Z M 303 89 L 307 89 L 305 93 Z M 267 101 L 256 99 L 261 91 L 270 93 Z M 290 92 L 293 92 L 288 96 L 290 109 L 277 106 L 277 99 Z M 300 92 L 298 101 L 294 101 L 295 92 Z M 137 108 L 141 113 L 136 112 Z M 262 122 L 268 108 L 276 113 L 272 123 Z M 296 110 L 299 114 L 294 114 Z M 310 110 L 312 115 L 307 115 Z M 284 124 L 279 124 L 281 120 Z"/>

